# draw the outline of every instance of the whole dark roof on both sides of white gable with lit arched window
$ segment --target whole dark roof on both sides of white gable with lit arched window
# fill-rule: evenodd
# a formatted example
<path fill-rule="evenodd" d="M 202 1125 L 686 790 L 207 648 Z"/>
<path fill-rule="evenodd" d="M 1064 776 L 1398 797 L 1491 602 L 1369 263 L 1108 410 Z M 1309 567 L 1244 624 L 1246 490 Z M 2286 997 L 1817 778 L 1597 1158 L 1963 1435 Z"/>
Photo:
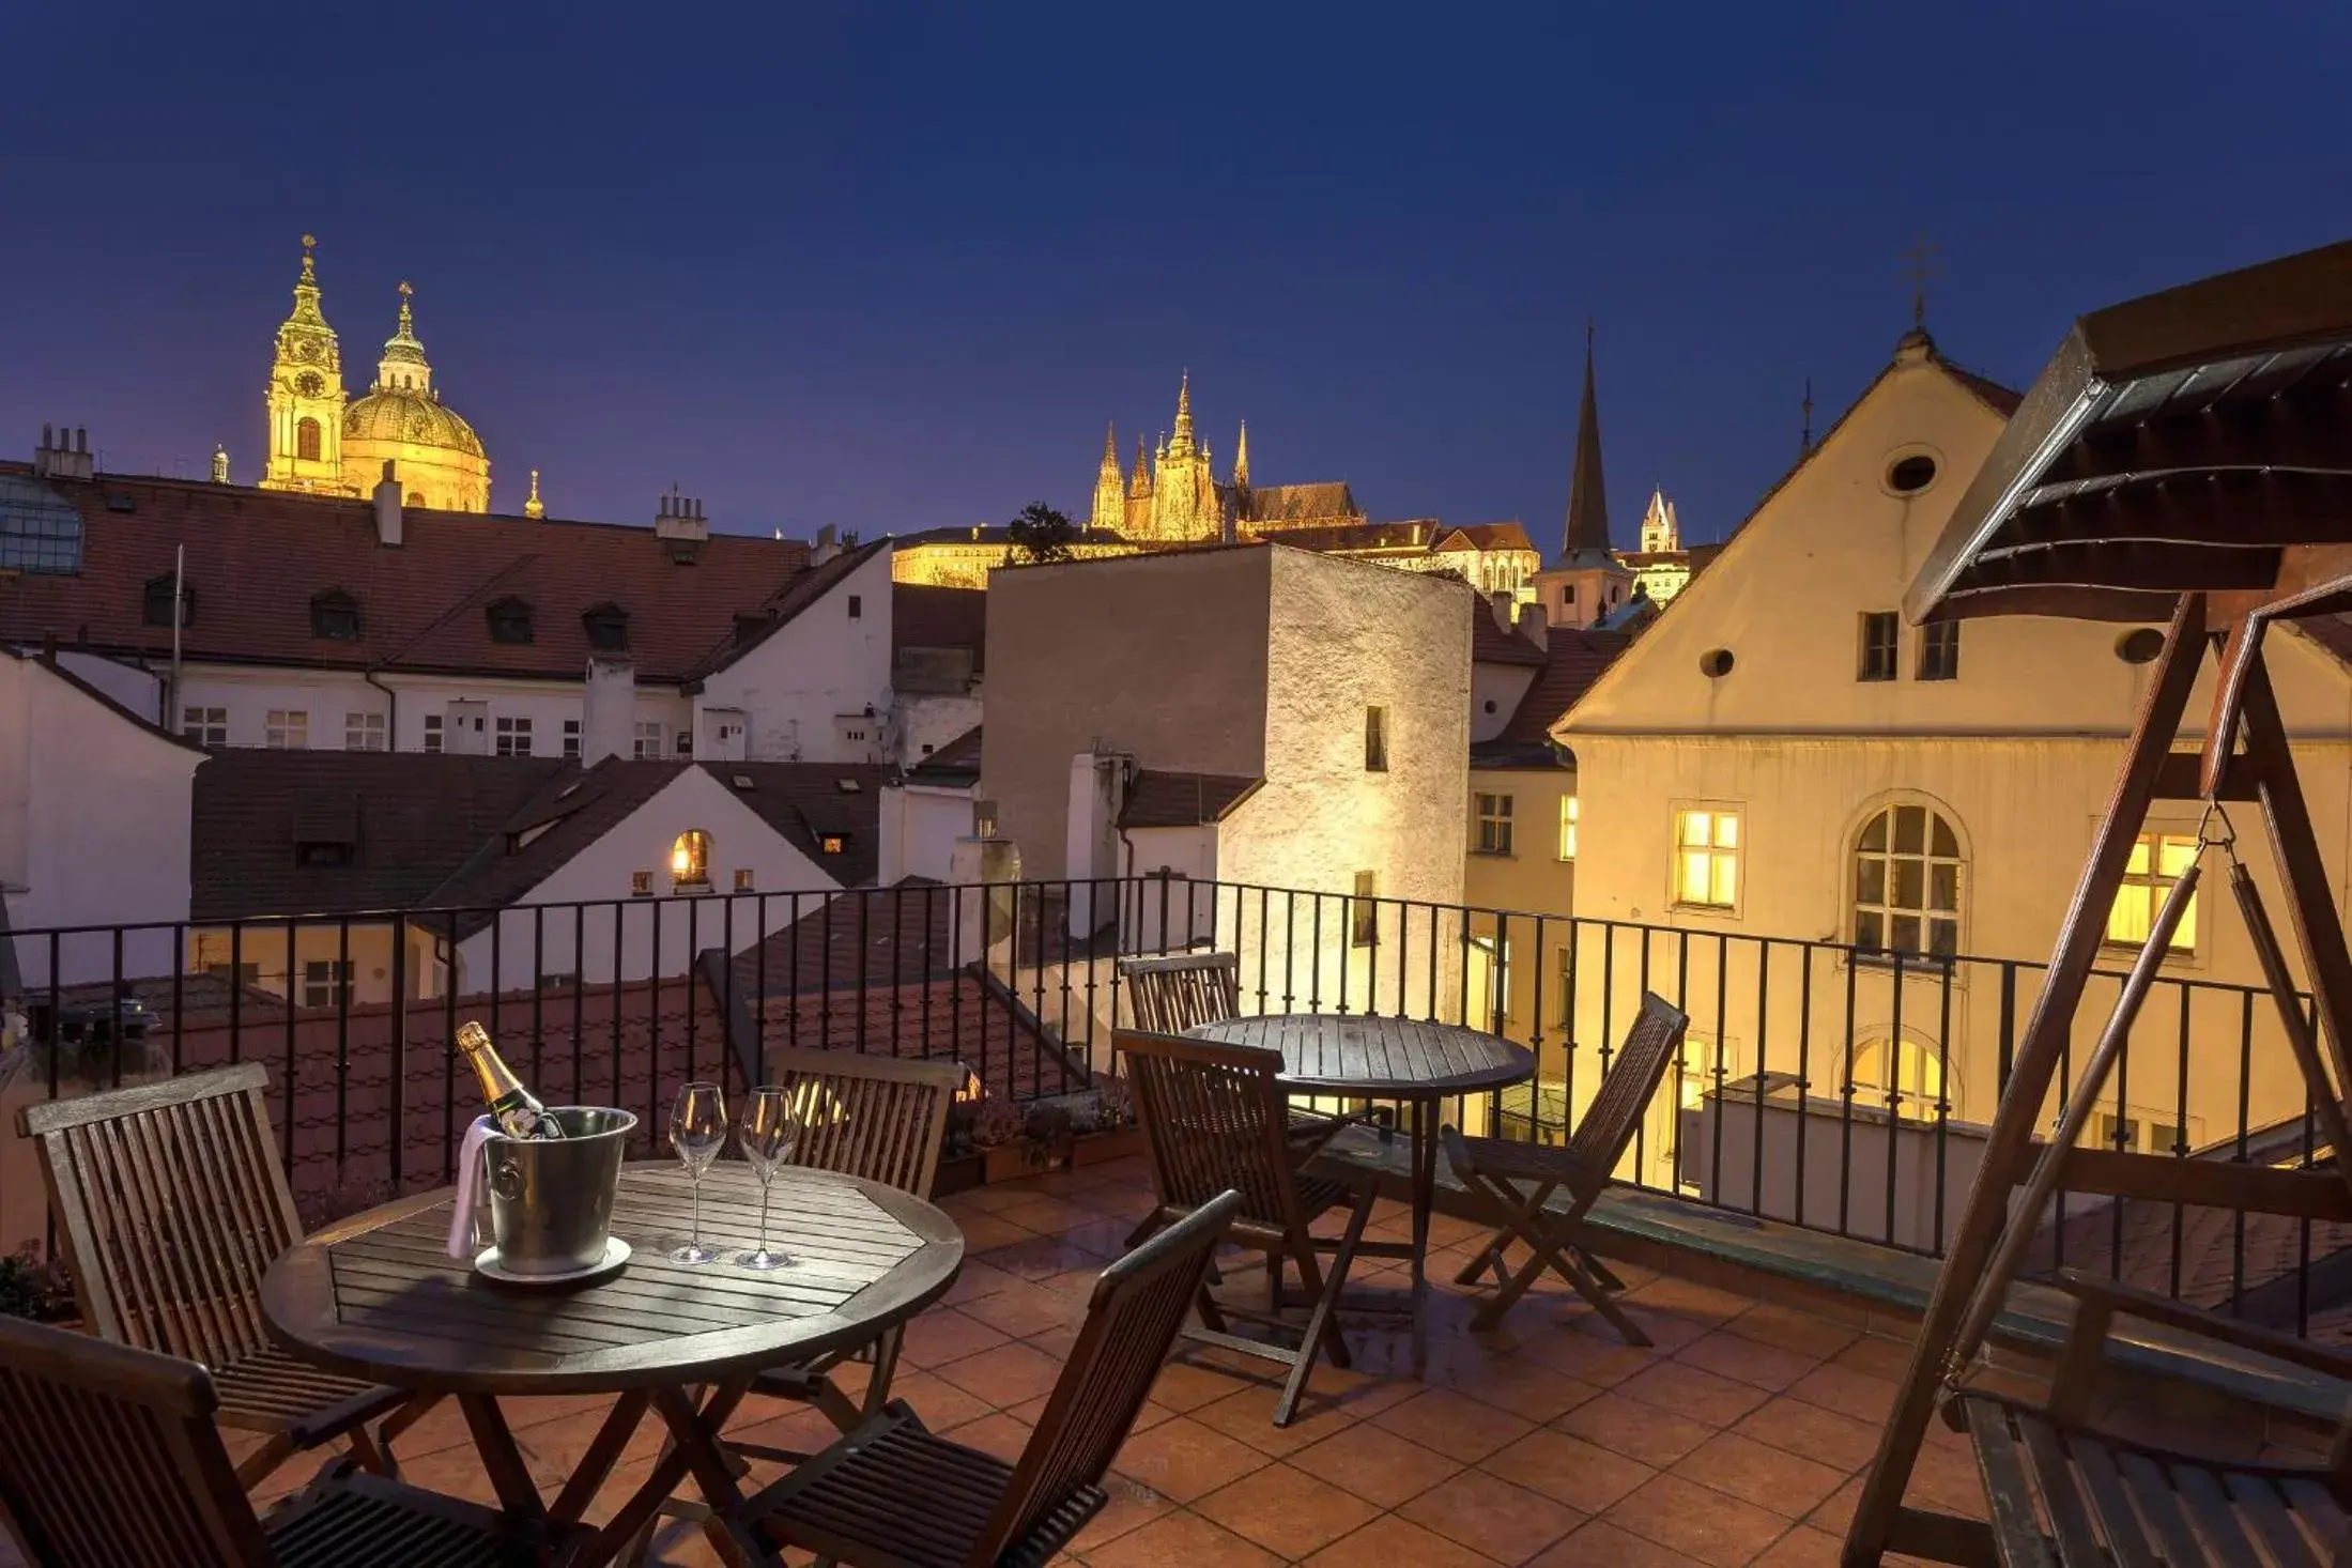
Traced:
<path fill-rule="evenodd" d="M 581 771 L 555 757 L 226 750 L 195 771 L 191 919 L 503 907 L 691 766 L 837 884 L 873 882 L 877 766 L 609 757 Z M 818 851 L 828 832 L 844 853 Z M 350 865 L 296 865 L 299 842 L 346 835 Z M 482 924 L 461 919 L 459 931 Z"/>

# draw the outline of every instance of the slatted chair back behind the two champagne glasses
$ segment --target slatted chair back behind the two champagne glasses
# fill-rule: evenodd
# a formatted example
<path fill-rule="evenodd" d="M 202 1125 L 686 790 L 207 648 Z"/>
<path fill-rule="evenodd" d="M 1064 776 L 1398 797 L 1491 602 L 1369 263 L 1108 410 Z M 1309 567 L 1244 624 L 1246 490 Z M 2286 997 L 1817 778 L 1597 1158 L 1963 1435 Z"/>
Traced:
<path fill-rule="evenodd" d="M 847 1051 L 769 1051 L 769 1081 L 800 1112 L 793 1164 L 861 1175 L 931 1197 L 948 1107 L 964 1086 L 960 1063 L 851 1056 Z"/>

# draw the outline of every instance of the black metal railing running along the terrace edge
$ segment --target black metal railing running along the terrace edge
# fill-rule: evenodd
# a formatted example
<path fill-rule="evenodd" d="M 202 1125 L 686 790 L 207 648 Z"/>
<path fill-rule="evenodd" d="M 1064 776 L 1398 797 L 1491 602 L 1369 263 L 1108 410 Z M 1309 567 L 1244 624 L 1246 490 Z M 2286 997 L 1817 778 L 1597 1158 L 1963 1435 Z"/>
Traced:
<path fill-rule="evenodd" d="M 1653 990 L 1691 1037 L 1623 1180 L 1922 1255 L 1966 1199 L 2042 985 L 2018 959 L 1181 877 L 75 926 L 0 950 L 0 1100 L 266 1060 L 282 1152 L 320 1211 L 452 1178 L 461 1018 L 546 1098 L 628 1105 L 647 1128 L 675 1084 L 760 1081 L 779 1048 L 953 1058 L 1030 1105 L 1110 1072 L 1120 957 L 1221 950 L 1249 1013 L 1435 1018 L 1524 1044 L 1526 1084 L 1449 1114 L 1562 1140 Z M 2051 1117 L 2126 961 L 2082 1006 Z M 2199 971 L 2157 983 L 2105 1100 L 2091 1138 L 2107 1147 L 2336 1157 L 2267 997 Z M 0 1152 L 5 1251 L 38 1234 L 40 1180 L 19 1140 Z M 2336 1305 L 2312 1281 L 2352 1248 L 2340 1229 L 2060 1194 L 2034 1265 L 2307 1328 Z"/>

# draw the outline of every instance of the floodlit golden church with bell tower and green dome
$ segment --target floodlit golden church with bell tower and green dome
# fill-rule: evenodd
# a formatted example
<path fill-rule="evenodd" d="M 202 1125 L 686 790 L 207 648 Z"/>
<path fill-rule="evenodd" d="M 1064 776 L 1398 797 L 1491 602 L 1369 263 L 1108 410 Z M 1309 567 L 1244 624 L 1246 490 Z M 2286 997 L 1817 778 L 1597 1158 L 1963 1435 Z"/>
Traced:
<path fill-rule="evenodd" d="M 374 386 L 348 397 L 341 346 L 320 310 L 315 244 L 303 235 L 294 313 L 278 327 L 261 489 L 367 496 L 390 463 L 407 505 L 487 512 L 489 454 L 433 386 L 409 284 L 400 284 L 400 324 L 383 343 Z"/>

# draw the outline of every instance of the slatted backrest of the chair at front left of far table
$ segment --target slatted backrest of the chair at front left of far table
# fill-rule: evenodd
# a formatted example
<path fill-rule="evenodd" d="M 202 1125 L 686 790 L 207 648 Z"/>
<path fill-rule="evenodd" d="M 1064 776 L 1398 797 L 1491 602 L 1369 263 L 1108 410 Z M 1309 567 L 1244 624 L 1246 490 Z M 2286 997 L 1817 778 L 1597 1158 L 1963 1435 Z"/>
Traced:
<path fill-rule="evenodd" d="M 1112 1039 L 1127 1056 L 1164 1208 L 1200 1208 L 1232 1190 L 1242 1194 L 1237 1222 L 1284 1234 L 1303 1227 L 1279 1051 L 1131 1030 Z"/>

